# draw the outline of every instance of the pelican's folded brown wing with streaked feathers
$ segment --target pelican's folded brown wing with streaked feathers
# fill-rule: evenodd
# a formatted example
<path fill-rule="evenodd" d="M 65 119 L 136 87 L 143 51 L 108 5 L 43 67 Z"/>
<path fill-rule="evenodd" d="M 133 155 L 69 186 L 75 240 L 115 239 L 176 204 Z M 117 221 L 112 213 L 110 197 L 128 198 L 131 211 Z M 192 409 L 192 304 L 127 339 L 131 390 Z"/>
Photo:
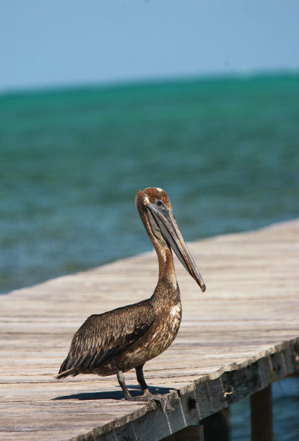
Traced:
<path fill-rule="evenodd" d="M 59 374 L 74 370 L 67 375 L 76 375 L 76 370 L 93 370 L 107 357 L 122 353 L 140 339 L 155 318 L 153 307 L 147 302 L 90 315 L 76 331 Z M 64 376 L 58 375 L 60 378 Z"/>

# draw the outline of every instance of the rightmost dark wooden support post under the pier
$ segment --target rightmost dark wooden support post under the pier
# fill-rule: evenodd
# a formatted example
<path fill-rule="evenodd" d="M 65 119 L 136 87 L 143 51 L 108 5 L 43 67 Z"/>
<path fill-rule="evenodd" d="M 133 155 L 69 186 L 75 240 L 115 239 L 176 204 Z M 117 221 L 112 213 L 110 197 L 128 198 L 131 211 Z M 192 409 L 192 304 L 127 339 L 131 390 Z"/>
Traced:
<path fill-rule="evenodd" d="M 273 441 L 271 384 L 250 396 L 251 440 Z"/>

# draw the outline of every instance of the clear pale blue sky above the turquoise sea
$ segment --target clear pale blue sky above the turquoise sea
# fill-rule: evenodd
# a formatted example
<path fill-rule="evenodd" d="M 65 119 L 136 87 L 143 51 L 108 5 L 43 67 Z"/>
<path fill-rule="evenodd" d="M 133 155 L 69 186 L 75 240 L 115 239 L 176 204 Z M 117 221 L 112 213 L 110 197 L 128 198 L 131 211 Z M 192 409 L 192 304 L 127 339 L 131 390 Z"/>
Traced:
<path fill-rule="evenodd" d="M 0 90 L 299 70 L 298 0 L 0 0 Z"/>

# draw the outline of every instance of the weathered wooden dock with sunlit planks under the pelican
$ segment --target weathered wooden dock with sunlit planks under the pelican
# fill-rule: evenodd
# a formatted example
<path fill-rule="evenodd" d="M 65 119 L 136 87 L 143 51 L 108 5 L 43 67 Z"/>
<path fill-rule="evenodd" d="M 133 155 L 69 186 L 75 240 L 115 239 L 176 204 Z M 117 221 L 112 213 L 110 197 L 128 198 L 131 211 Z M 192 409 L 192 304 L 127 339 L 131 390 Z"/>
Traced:
<path fill-rule="evenodd" d="M 153 293 L 153 252 L 2 295 L 0 439 L 161 440 L 291 375 L 299 369 L 298 239 L 293 220 L 189 245 L 206 293 L 176 266 L 182 325 L 144 370 L 151 387 L 171 392 L 168 413 L 124 401 L 115 376 L 53 378 L 88 315 Z M 137 391 L 135 372 L 125 376 Z"/>

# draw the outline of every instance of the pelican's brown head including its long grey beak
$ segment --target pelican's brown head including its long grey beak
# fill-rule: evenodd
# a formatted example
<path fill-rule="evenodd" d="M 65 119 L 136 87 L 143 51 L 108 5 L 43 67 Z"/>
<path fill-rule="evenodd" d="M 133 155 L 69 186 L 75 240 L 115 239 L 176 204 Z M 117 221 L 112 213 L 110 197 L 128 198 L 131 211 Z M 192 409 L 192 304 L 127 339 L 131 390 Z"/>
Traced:
<path fill-rule="evenodd" d="M 136 207 L 156 249 L 172 249 L 204 293 L 204 280 L 177 226 L 168 194 L 156 187 L 140 190 L 136 194 Z"/>

